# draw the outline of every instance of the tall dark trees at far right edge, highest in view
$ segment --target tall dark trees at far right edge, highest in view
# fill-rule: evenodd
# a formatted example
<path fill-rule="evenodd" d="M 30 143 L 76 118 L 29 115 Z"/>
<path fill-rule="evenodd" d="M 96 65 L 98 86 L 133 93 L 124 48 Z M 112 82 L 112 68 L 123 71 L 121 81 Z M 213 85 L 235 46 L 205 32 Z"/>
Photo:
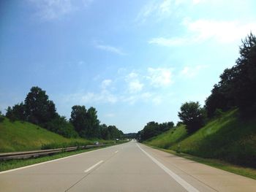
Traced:
<path fill-rule="evenodd" d="M 251 33 L 240 47 L 236 65 L 220 75 L 211 95 L 206 99 L 208 117 L 214 116 L 217 109 L 222 111 L 238 107 L 241 115 L 256 113 L 256 37 Z"/>

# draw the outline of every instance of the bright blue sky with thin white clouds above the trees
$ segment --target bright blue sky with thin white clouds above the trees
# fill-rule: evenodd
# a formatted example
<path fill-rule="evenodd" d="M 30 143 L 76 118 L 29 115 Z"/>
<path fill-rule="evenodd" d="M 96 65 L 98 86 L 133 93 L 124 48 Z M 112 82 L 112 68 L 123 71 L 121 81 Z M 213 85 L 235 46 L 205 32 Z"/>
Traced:
<path fill-rule="evenodd" d="M 0 1 L 0 110 L 46 91 L 124 133 L 210 95 L 256 33 L 254 0 Z"/>

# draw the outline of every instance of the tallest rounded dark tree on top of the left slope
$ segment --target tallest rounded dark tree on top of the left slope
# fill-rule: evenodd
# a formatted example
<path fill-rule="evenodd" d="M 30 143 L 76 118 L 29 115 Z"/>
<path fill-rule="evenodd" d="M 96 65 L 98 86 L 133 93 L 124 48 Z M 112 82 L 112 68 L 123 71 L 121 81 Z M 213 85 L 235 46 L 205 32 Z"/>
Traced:
<path fill-rule="evenodd" d="M 25 99 L 26 117 L 31 123 L 45 126 L 50 120 L 56 118 L 56 107 L 48 99 L 45 91 L 39 87 L 32 87 Z"/>

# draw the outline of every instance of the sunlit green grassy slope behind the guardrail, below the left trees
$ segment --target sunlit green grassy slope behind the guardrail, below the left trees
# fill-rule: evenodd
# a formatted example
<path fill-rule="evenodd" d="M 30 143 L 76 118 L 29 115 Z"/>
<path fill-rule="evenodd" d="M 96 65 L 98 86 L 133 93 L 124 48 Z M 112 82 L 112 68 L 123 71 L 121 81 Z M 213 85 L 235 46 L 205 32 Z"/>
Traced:
<path fill-rule="evenodd" d="M 0 152 L 15 152 L 24 150 L 39 150 L 42 145 L 52 143 L 69 143 L 91 141 L 86 139 L 67 139 L 59 134 L 54 134 L 32 123 L 15 121 L 7 118 L 0 123 Z"/>

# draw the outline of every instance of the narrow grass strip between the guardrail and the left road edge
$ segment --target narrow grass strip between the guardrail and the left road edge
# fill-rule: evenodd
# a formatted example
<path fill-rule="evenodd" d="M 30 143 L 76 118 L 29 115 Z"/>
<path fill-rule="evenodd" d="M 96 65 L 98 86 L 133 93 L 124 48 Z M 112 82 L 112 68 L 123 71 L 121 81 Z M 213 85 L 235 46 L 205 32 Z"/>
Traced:
<path fill-rule="evenodd" d="M 121 143 L 118 143 L 118 144 L 121 144 Z M 115 145 L 115 144 L 112 144 L 112 145 Z M 111 145 L 108 145 L 108 147 L 110 147 L 110 146 Z M 104 147 L 107 147 L 107 146 L 104 146 Z M 88 151 L 91 151 L 91 150 L 97 150 L 99 148 L 103 148 L 103 147 L 58 153 L 58 154 L 55 154 L 55 155 L 48 155 L 48 156 L 43 156 L 43 157 L 38 157 L 38 158 L 13 159 L 13 160 L 8 160 L 8 161 L 0 161 L 0 172 L 5 171 L 5 170 L 9 170 L 9 169 L 15 169 L 15 168 L 22 167 L 22 166 L 29 166 L 31 164 L 39 164 L 39 163 L 42 163 L 42 162 L 45 162 L 45 161 L 50 161 L 50 160 L 57 159 L 57 158 L 64 158 L 64 157 L 67 157 L 67 156 L 70 156 L 70 155 L 85 153 L 85 152 L 88 152 Z"/>

